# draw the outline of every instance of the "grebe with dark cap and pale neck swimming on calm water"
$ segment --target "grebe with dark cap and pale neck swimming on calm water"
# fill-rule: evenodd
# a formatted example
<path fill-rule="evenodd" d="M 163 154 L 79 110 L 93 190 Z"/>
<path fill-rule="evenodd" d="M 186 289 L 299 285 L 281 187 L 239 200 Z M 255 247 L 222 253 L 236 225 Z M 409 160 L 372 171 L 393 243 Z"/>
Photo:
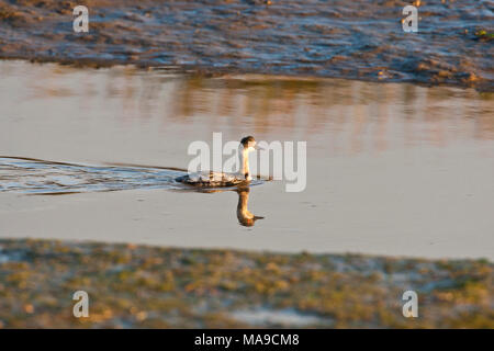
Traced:
<path fill-rule="evenodd" d="M 177 182 L 194 186 L 218 188 L 235 186 L 252 180 L 249 172 L 249 152 L 256 150 L 256 140 L 252 136 L 246 136 L 240 140 L 240 171 L 238 173 L 223 172 L 197 172 L 176 178 Z"/>

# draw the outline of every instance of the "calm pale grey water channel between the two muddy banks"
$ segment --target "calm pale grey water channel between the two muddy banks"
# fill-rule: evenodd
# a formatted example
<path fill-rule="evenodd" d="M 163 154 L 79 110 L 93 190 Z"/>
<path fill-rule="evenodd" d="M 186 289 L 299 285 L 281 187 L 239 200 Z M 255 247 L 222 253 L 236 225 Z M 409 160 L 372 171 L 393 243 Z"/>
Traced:
<path fill-rule="evenodd" d="M 491 93 L 21 61 L 0 77 L 2 237 L 494 259 Z M 213 132 L 307 141 L 306 190 L 168 186 Z M 240 204 L 265 218 L 240 226 Z"/>

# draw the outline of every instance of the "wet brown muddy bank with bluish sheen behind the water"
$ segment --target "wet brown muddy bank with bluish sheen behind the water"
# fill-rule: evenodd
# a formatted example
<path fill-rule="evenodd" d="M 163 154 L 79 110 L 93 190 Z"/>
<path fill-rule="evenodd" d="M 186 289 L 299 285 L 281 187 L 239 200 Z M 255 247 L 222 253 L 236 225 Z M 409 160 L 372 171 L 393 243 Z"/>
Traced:
<path fill-rule="evenodd" d="M 492 1 L 0 0 L 0 58 L 135 65 L 202 75 L 269 73 L 451 84 L 494 91 Z"/>

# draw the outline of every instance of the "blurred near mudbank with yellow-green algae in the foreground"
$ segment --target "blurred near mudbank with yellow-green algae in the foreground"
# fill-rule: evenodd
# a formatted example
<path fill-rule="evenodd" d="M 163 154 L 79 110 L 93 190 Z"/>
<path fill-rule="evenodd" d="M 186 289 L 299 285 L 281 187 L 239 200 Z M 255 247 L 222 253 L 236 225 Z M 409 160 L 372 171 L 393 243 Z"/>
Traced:
<path fill-rule="evenodd" d="M 242 318 L 249 314 L 277 316 L 256 327 L 493 328 L 493 269 L 486 260 L 1 239 L 0 326 L 252 327 Z M 79 290 L 88 318 L 72 316 Z M 402 315 L 406 290 L 418 293 L 418 318 Z"/>

